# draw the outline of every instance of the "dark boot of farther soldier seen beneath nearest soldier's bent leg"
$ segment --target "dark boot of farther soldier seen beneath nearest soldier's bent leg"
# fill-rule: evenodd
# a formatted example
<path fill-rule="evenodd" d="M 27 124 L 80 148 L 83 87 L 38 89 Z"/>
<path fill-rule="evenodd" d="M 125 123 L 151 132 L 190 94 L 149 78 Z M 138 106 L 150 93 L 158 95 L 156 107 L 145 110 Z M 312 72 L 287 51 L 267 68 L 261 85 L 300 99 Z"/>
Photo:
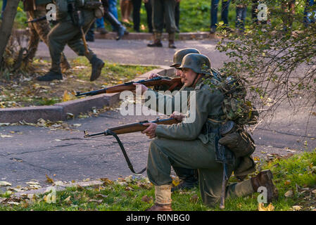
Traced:
<path fill-rule="evenodd" d="M 171 191 L 178 191 L 183 189 L 191 189 L 198 186 L 197 169 L 187 169 L 180 167 L 173 167 L 179 179 L 182 180 L 180 184 L 171 188 Z"/>

